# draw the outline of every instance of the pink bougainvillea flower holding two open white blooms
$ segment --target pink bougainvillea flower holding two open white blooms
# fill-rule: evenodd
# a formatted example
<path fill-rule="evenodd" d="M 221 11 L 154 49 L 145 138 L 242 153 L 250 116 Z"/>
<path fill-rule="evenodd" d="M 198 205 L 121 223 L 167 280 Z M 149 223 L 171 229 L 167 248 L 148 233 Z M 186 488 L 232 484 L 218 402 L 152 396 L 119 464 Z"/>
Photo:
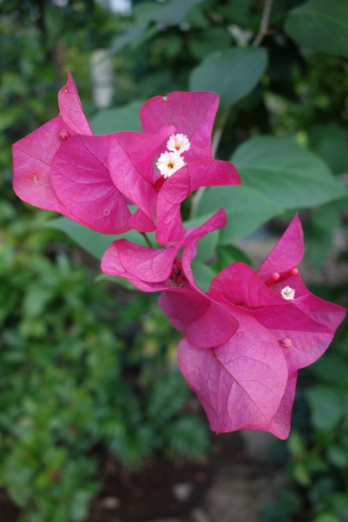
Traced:
<path fill-rule="evenodd" d="M 141 232 L 157 229 L 161 244 L 185 235 L 180 205 L 199 187 L 239 184 L 227 161 L 212 159 L 215 93 L 169 93 L 141 108 L 143 134 L 115 134 L 109 155 L 113 183 L 138 210 L 129 218 Z M 157 168 L 155 169 L 155 157 Z"/>

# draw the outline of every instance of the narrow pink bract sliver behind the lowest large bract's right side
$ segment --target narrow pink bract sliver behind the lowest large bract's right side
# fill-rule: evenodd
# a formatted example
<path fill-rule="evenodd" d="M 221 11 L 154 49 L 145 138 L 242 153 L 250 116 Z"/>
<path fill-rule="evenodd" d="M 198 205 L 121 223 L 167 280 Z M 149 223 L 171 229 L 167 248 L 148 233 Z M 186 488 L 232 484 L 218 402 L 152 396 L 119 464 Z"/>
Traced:
<path fill-rule="evenodd" d="M 283 399 L 280 402 L 278 411 L 271 422 L 267 425 L 253 425 L 248 429 L 260 429 L 262 432 L 270 432 L 283 441 L 289 436 L 292 405 L 294 404 L 296 391 L 297 372 L 289 374 Z"/>

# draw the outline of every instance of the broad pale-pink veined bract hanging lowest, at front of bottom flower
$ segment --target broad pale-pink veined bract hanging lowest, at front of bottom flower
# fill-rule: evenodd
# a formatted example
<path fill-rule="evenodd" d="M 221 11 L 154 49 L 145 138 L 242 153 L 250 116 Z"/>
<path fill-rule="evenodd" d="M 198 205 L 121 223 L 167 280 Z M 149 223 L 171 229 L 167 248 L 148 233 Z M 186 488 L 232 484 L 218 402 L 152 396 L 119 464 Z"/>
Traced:
<path fill-rule="evenodd" d="M 239 329 L 226 344 L 199 349 L 182 340 L 179 365 L 216 433 L 267 425 L 287 383 L 278 343 L 255 319 L 236 312 Z"/>

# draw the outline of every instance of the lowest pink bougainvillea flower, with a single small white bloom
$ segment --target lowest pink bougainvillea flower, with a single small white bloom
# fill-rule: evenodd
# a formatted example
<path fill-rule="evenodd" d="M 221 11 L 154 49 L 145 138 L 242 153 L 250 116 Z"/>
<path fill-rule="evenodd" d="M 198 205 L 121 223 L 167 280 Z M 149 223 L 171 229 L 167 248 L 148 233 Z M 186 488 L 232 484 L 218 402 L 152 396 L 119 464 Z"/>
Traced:
<path fill-rule="evenodd" d="M 182 260 L 191 282 L 193 255 L 187 248 Z M 302 255 L 303 234 L 295 216 L 258 274 L 235 263 L 212 281 L 207 297 L 239 322 L 237 333 L 224 343 L 212 334 L 209 349 L 200 348 L 192 335 L 180 345 L 180 368 L 216 432 L 262 429 L 279 438 L 289 434 L 297 370 L 323 354 L 346 313 L 306 289 L 294 266 Z M 159 305 L 186 333 L 184 299 L 166 290 Z"/>

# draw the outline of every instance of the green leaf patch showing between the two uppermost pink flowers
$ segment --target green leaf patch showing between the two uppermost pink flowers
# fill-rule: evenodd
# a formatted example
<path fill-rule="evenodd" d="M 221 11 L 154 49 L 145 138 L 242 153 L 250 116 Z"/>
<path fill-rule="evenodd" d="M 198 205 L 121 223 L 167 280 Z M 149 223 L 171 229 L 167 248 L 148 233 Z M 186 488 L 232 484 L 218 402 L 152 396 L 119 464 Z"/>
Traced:
<path fill-rule="evenodd" d="M 141 131 L 139 111 L 143 102 L 129 103 L 116 109 L 106 109 L 90 119 L 95 134 L 111 134 L 121 131 Z"/>

